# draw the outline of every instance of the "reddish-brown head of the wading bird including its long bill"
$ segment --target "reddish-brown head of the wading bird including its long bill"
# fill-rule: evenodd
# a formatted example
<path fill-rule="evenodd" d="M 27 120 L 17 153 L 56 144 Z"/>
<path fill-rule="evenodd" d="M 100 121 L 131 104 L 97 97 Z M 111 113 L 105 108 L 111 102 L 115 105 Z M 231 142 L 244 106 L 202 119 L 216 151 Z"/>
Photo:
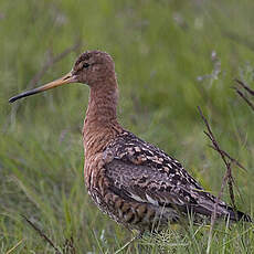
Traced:
<path fill-rule="evenodd" d="M 63 77 L 38 88 L 27 91 L 17 96 L 13 96 L 9 99 L 9 102 L 13 103 L 22 97 L 38 94 L 46 89 L 51 89 L 70 83 L 83 83 L 95 88 L 95 86 L 105 85 L 105 82 L 102 81 L 107 80 L 109 82 L 107 82 L 106 84 L 108 84 L 108 86 L 110 86 L 112 84 L 115 88 L 115 66 L 110 55 L 100 51 L 86 51 L 78 56 L 73 66 L 73 70 Z M 113 80 L 113 82 L 110 82 L 110 80 Z"/>

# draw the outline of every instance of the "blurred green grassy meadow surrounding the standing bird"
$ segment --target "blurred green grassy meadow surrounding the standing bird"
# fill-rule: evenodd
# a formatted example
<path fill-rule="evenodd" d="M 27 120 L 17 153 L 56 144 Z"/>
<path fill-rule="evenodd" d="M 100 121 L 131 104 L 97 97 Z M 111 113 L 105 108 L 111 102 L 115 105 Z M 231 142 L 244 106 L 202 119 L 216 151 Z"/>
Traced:
<path fill-rule="evenodd" d="M 0 1 L 0 253 L 114 253 L 130 233 L 93 204 L 81 129 L 88 88 L 73 84 L 9 105 L 65 74 L 86 50 L 106 51 L 119 82 L 119 121 L 178 158 L 218 194 L 225 172 L 200 106 L 233 167 L 237 208 L 253 215 L 254 115 L 232 86 L 254 87 L 252 0 Z M 223 199 L 230 202 L 227 191 Z M 169 227 L 121 253 L 204 253 L 208 226 Z M 251 224 L 219 223 L 210 253 L 254 253 Z"/>

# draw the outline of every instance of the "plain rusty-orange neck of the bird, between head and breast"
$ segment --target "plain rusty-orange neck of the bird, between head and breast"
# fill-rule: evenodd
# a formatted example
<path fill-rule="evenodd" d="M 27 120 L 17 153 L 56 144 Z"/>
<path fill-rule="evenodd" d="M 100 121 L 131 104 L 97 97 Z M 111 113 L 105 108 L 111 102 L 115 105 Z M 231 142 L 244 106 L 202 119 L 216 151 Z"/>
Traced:
<path fill-rule="evenodd" d="M 116 78 L 91 86 L 83 128 L 85 157 L 103 151 L 123 131 L 117 121 L 118 88 Z"/>

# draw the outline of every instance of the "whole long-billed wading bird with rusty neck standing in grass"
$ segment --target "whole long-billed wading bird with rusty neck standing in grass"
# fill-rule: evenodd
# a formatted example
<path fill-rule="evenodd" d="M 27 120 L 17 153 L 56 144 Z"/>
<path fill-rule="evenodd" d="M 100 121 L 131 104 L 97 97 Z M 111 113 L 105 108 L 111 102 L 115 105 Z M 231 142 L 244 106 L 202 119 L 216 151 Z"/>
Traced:
<path fill-rule="evenodd" d="M 82 53 L 72 71 L 10 103 L 70 83 L 89 87 L 83 127 L 84 179 L 97 207 L 114 221 L 138 232 L 163 229 L 188 214 L 251 221 L 205 191 L 173 157 L 126 130 L 117 120 L 118 83 L 112 56 L 102 51 Z"/>

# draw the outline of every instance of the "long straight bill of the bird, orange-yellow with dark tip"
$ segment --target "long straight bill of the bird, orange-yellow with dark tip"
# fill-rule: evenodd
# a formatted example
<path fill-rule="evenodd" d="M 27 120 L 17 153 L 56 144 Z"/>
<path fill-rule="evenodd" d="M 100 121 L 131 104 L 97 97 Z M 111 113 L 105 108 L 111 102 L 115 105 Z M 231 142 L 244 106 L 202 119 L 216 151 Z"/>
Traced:
<path fill-rule="evenodd" d="M 70 84 L 70 83 L 74 83 L 74 82 L 77 82 L 77 78 L 75 75 L 72 74 L 72 72 L 67 73 L 66 75 L 64 75 L 63 77 L 56 80 L 56 81 L 53 81 L 51 83 L 47 83 L 43 86 L 40 86 L 38 88 L 34 88 L 34 89 L 31 89 L 31 91 L 27 91 L 27 92 L 23 92 L 17 96 L 13 96 L 9 99 L 9 103 L 13 103 L 15 102 L 17 99 L 20 99 L 20 98 L 23 98 L 23 97 L 27 97 L 27 96 L 30 96 L 30 95 L 33 95 L 33 94 L 38 94 L 38 93 L 41 93 L 41 92 L 44 92 L 46 89 L 52 89 L 56 86 L 61 86 L 61 85 L 64 85 L 64 84 Z"/>

